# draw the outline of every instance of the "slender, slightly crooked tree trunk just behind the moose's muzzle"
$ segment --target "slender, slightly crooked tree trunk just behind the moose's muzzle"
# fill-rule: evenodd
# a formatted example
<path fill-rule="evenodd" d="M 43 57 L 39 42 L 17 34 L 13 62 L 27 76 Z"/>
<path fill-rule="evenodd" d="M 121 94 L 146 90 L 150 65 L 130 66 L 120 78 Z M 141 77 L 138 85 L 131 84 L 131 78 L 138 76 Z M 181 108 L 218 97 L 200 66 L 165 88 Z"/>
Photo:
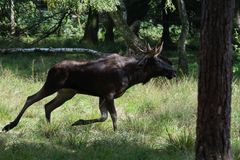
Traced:
<path fill-rule="evenodd" d="M 183 0 L 177 0 L 178 12 L 182 23 L 181 34 L 178 39 L 178 72 L 180 74 L 188 74 L 188 62 L 186 53 L 186 39 L 189 31 L 189 22 L 185 3 Z"/>

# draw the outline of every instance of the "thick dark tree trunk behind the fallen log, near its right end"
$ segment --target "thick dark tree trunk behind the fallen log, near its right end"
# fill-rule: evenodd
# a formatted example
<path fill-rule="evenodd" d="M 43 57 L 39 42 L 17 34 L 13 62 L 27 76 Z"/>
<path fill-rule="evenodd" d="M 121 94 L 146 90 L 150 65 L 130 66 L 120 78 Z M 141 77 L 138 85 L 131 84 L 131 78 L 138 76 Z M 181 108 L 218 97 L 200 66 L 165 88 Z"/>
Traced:
<path fill-rule="evenodd" d="M 90 7 L 82 42 L 92 44 L 98 43 L 98 29 L 99 29 L 98 13 L 97 11 L 91 9 Z"/>

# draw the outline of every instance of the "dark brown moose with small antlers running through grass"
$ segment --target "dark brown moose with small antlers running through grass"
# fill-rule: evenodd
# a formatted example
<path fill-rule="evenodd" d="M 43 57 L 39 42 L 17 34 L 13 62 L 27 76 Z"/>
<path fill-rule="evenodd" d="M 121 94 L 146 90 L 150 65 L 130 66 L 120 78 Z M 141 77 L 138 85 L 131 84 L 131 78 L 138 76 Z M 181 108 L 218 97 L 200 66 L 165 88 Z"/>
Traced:
<path fill-rule="evenodd" d="M 121 97 L 133 85 L 145 84 L 151 78 L 163 76 L 171 79 L 176 77 L 172 63 L 160 55 L 161 51 L 162 45 L 154 49 L 149 48 L 142 57 L 124 57 L 112 54 L 97 60 L 64 60 L 57 63 L 48 71 L 43 87 L 27 98 L 15 120 L 2 130 L 7 132 L 17 126 L 29 106 L 57 92 L 56 97 L 44 106 L 48 122 L 51 121 L 51 112 L 54 109 L 76 94 L 86 94 L 99 97 L 101 116 L 96 119 L 80 119 L 72 126 L 104 122 L 108 118 L 109 112 L 115 131 L 117 129 L 117 112 L 114 99 Z"/>

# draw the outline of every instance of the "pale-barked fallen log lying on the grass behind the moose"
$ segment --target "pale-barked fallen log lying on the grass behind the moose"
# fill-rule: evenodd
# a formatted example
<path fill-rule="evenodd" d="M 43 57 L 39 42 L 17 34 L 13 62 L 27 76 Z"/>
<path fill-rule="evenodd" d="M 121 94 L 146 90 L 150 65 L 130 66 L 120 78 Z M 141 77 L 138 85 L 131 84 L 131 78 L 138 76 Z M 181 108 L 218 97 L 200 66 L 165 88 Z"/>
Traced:
<path fill-rule="evenodd" d="M 105 53 L 87 48 L 1 48 L 1 54 L 10 53 L 87 53 L 93 56 L 103 56 Z"/>

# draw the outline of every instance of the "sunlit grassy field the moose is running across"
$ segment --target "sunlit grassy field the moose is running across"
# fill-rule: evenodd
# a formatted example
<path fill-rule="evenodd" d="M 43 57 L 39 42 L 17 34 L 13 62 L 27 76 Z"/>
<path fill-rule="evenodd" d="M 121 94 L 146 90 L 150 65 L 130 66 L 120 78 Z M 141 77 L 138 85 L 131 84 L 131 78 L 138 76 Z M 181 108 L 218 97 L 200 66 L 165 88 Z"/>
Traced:
<path fill-rule="evenodd" d="M 0 56 L 0 128 L 13 120 L 26 97 L 38 91 L 52 64 L 83 55 Z M 233 83 L 232 149 L 240 160 L 240 82 Z M 116 100 L 118 131 L 111 120 L 71 127 L 78 119 L 99 116 L 98 99 L 77 95 L 52 114 L 48 124 L 44 104 L 24 114 L 19 125 L 0 132 L 0 160 L 193 160 L 197 81 L 154 79 L 130 88 Z"/>

